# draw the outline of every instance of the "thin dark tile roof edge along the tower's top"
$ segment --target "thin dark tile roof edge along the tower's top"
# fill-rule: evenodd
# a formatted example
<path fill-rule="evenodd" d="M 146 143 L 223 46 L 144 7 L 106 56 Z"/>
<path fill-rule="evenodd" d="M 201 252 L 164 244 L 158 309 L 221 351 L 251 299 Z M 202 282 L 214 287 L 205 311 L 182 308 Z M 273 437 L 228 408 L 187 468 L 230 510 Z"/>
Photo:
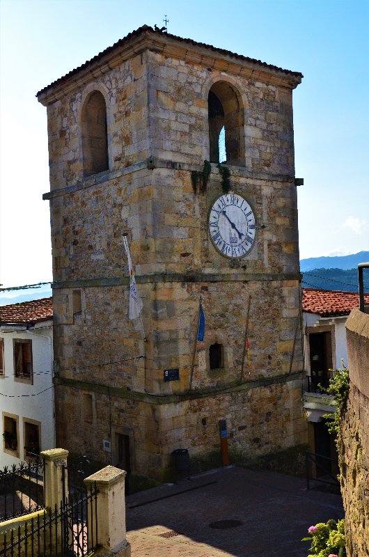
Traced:
<path fill-rule="evenodd" d="M 56 81 L 53 81 L 51 84 L 47 85 L 46 87 L 44 87 L 43 89 L 38 91 L 38 93 L 36 93 L 36 97 L 38 97 L 38 95 L 40 95 L 41 93 L 45 93 L 45 91 L 47 91 L 47 89 L 51 88 L 52 86 L 60 84 L 62 81 L 65 81 L 65 80 L 69 79 L 72 75 L 77 74 L 77 72 L 79 72 L 80 70 L 84 70 L 84 69 L 88 68 L 88 65 L 91 65 L 91 64 L 95 63 L 100 58 L 102 58 L 105 54 L 109 54 L 109 53 L 113 52 L 114 49 L 117 49 L 118 47 L 122 47 L 127 42 L 129 42 L 129 40 L 131 40 L 132 38 L 138 37 L 138 36 L 140 36 L 141 34 L 144 34 L 144 33 L 153 33 L 155 35 L 159 34 L 161 36 L 166 36 L 168 38 L 178 40 L 180 42 L 187 42 L 188 45 L 192 45 L 194 47 L 206 48 L 206 49 L 212 50 L 212 52 L 217 52 L 217 53 L 223 54 L 225 56 L 231 56 L 232 58 L 237 58 L 238 60 L 244 60 L 246 62 L 251 62 L 251 63 L 254 63 L 254 64 L 258 64 L 258 65 L 260 65 L 264 68 L 269 68 L 270 70 L 277 70 L 278 72 L 283 72 L 285 74 L 295 75 L 297 77 L 304 77 L 303 74 L 301 74 L 301 72 L 292 72 L 291 70 L 283 70 L 283 68 L 278 68 L 278 66 L 276 66 L 276 65 L 267 64 L 266 62 L 256 60 L 255 58 L 249 58 L 248 56 L 242 56 L 242 54 L 236 54 L 235 52 L 230 52 L 230 50 L 226 50 L 226 49 L 223 49 L 223 48 L 213 47 L 212 45 L 205 44 L 205 42 L 197 42 L 196 40 L 178 37 L 176 35 L 171 35 L 171 33 L 162 33 L 162 31 L 152 29 L 152 27 L 150 27 L 148 25 L 143 25 L 143 26 L 139 27 L 139 29 L 136 29 L 135 31 L 132 31 L 132 33 L 128 33 L 127 36 L 125 36 L 123 39 L 120 39 L 117 42 L 115 42 L 111 47 L 108 47 L 108 48 L 104 49 L 102 52 L 99 52 L 99 54 L 97 54 L 96 56 L 91 58 L 91 60 L 86 61 L 84 64 L 80 65 L 78 68 L 74 68 L 74 70 L 71 70 L 70 72 L 68 72 L 68 74 L 63 75 L 63 77 L 59 77 L 59 79 L 56 79 Z"/>

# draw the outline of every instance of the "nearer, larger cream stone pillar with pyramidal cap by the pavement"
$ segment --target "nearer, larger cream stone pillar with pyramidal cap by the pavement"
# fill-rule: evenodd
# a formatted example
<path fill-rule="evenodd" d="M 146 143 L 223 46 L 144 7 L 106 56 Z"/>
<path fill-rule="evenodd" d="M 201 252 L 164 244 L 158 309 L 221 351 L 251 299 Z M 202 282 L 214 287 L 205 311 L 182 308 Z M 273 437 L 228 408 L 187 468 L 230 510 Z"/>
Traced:
<path fill-rule="evenodd" d="M 130 557 L 131 546 L 125 538 L 125 475 L 127 472 L 106 466 L 84 483 L 90 489 L 96 484 L 97 518 L 93 507 L 93 523 L 97 521 L 97 541 L 102 546 L 102 554 Z"/>

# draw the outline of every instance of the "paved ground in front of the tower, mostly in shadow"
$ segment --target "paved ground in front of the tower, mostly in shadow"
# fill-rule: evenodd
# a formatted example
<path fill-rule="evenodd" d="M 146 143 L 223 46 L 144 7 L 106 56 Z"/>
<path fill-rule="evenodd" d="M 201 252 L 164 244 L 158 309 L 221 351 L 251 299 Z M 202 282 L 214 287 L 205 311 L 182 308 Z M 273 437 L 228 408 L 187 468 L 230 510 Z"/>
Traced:
<path fill-rule="evenodd" d="M 339 495 L 236 466 L 126 499 L 132 557 L 306 557 L 311 524 L 343 517 Z M 212 522 L 242 524 L 216 529 Z"/>

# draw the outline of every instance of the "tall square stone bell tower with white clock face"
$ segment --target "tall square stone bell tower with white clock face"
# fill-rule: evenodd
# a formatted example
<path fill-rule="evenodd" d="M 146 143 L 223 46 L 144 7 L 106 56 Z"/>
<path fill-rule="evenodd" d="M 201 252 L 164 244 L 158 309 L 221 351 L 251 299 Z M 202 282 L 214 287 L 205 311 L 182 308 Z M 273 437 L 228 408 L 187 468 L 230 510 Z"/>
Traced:
<path fill-rule="evenodd" d="M 231 462 L 306 441 L 301 77 L 143 26 L 39 91 L 60 446 L 164 478 L 178 448 L 193 471 L 221 463 L 219 421 Z"/>

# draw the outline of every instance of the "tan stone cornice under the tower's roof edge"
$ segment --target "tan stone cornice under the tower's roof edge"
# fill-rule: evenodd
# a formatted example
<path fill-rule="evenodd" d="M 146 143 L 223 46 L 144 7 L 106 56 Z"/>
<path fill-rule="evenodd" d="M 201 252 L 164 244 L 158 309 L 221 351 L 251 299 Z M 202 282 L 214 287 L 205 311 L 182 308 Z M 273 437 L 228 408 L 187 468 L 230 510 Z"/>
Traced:
<path fill-rule="evenodd" d="M 122 41 L 113 48 L 107 49 L 101 55 L 95 56 L 86 63 L 72 70 L 70 74 L 58 79 L 54 84 L 43 88 L 37 93 L 38 101 L 47 107 L 49 104 L 60 100 L 73 93 L 95 79 L 113 70 L 118 65 L 129 60 L 137 54 L 152 51 L 163 56 L 179 58 L 191 64 L 203 65 L 210 70 L 228 72 L 240 77 L 261 81 L 262 83 L 294 89 L 301 83 L 301 74 L 287 72 L 281 68 L 252 61 L 250 58 L 233 55 L 227 51 L 216 49 L 209 45 L 196 45 L 191 41 L 179 40 L 166 33 L 143 32 L 130 40 Z M 244 58 L 244 59 L 243 59 Z"/>

